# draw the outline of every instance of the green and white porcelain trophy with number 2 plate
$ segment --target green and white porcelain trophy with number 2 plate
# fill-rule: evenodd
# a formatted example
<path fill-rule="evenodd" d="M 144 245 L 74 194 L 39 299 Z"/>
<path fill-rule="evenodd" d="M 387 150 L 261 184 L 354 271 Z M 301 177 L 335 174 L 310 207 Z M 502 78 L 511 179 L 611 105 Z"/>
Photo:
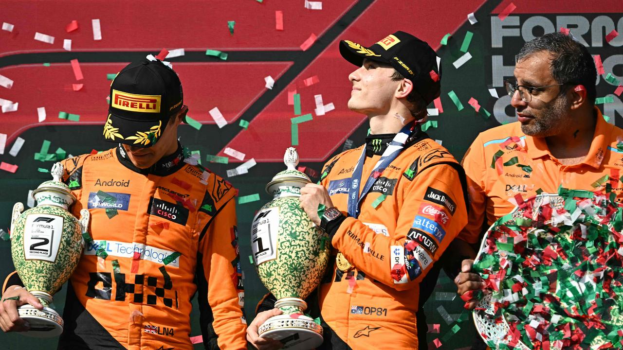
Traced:
<path fill-rule="evenodd" d="M 63 166 L 55 163 L 50 173 L 53 180 L 45 181 L 32 191 L 37 206 L 24 210 L 17 202 L 11 217 L 11 254 L 13 264 L 24 288 L 39 298 L 44 306 L 37 310 L 31 305 L 17 308 L 19 316 L 30 323 L 27 336 L 47 338 L 59 336 L 64 321 L 50 307 L 52 295 L 69 280 L 74 272 L 87 232 L 90 215 L 80 210 L 80 220 L 69 212 L 76 197 L 69 187 L 60 181 Z"/>

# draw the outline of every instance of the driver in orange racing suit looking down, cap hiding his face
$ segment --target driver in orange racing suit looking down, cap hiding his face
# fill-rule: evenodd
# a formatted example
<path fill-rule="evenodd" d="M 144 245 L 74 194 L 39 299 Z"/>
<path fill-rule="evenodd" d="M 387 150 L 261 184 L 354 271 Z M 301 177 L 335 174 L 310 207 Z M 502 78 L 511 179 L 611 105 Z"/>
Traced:
<path fill-rule="evenodd" d="M 206 348 L 246 349 L 236 190 L 178 143 L 178 75 L 150 55 L 121 70 L 110 96 L 103 135 L 117 148 L 62 162 L 72 211 L 91 221 L 59 349 L 193 349 L 195 294 Z M 19 285 L 16 273 L 4 282 L 3 331 L 28 328 L 16 306 L 41 306 Z"/>

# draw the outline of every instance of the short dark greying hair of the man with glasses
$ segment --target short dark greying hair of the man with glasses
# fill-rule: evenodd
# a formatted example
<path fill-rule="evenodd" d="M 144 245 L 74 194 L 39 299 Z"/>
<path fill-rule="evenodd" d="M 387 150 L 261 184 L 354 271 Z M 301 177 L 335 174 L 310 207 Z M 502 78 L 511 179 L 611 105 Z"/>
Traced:
<path fill-rule="evenodd" d="M 584 85 L 586 97 L 594 105 L 597 96 L 597 69 L 586 47 L 573 40 L 571 34 L 554 32 L 523 44 L 515 60 L 519 62 L 541 51 L 549 52 L 552 57 L 549 67 L 556 82 Z M 561 93 L 567 89 L 568 87 L 562 87 Z"/>

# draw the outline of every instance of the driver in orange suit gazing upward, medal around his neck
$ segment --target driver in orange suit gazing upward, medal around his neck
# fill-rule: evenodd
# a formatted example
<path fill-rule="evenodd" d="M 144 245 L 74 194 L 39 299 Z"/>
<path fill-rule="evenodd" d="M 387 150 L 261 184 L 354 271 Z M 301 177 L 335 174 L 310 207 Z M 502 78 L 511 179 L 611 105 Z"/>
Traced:
<path fill-rule="evenodd" d="M 359 67 L 348 106 L 368 116 L 371 135 L 301 190 L 303 209 L 337 253 L 318 290 L 319 349 L 417 349 L 419 283 L 467 222 L 462 168 L 419 126 L 439 97 L 437 56 L 405 32 L 369 48 L 344 40 L 340 52 Z M 277 345 L 256 331 L 279 313 L 264 311 L 249 326 L 257 348 Z"/>

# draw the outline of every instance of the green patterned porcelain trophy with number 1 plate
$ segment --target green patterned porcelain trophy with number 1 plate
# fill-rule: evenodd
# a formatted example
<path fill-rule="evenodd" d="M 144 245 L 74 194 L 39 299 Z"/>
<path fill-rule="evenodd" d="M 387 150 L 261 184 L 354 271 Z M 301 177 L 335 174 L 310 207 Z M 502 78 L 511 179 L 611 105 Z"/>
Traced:
<path fill-rule="evenodd" d="M 304 299 L 325 273 L 330 242 L 300 207 L 300 189 L 312 181 L 295 169 L 296 149 L 288 148 L 283 162 L 287 169 L 266 185 L 273 200 L 257 212 L 251 226 L 255 268 L 277 298 L 275 308 L 283 311 L 267 319 L 259 335 L 282 341 L 286 349 L 307 350 L 323 342 L 322 327 L 303 311 Z"/>

